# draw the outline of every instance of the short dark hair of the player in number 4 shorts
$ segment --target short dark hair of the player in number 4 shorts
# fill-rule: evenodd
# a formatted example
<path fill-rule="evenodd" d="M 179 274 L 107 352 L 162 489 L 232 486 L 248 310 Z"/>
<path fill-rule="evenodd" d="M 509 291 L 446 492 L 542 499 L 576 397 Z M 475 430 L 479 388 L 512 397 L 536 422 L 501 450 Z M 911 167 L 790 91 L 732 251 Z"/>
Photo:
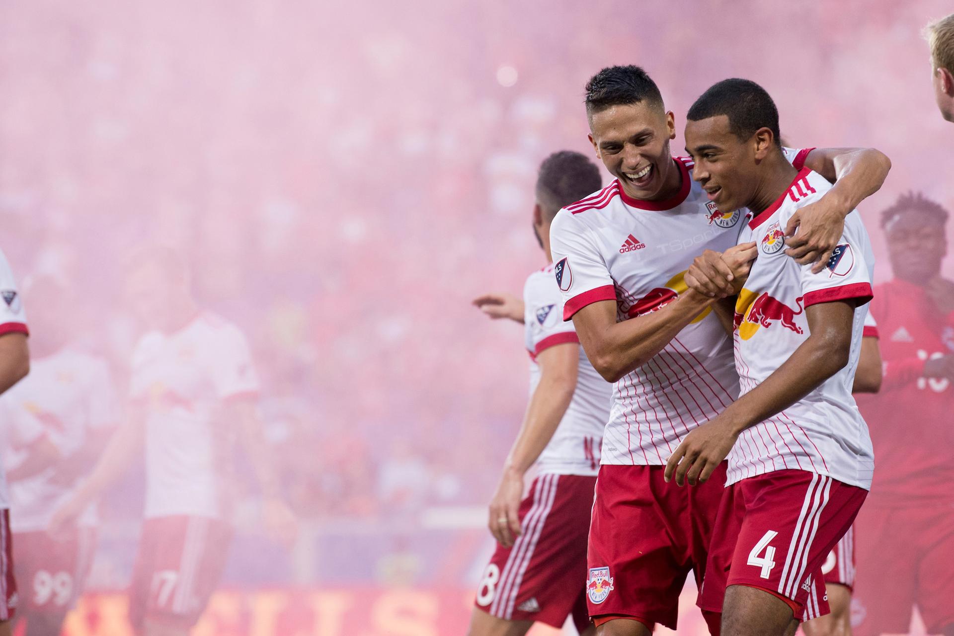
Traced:
<path fill-rule="evenodd" d="M 724 114 L 729 117 L 729 130 L 745 141 L 757 130 L 767 128 L 781 146 L 778 133 L 778 109 L 772 97 L 749 79 L 723 79 L 709 87 L 695 100 L 686 119 L 698 121 Z"/>

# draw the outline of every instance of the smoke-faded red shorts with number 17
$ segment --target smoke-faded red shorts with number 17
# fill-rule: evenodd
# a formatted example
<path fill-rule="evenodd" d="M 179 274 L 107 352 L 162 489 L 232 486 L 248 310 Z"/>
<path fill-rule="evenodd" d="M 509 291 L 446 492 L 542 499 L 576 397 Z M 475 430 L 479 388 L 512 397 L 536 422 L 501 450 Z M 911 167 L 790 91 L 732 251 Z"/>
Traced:
<path fill-rule="evenodd" d="M 142 525 L 133 567 L 129 620 L 188 629 L 196 625 L 225 567 L 232 527 L 202 517 L 157 517 Z"/>

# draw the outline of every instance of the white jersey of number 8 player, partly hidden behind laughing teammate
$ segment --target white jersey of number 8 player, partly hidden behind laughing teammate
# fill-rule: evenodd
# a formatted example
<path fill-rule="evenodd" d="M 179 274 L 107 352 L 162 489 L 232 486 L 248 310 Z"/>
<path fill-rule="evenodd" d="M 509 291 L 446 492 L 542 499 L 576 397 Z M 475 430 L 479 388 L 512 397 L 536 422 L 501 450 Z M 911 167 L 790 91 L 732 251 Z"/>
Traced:
<path fill-rule="evenodd" d="M 524 307 L 524 336 L 530 355 L 530 395 L 533 395 L 540 382 L 536 356 L 555 344 L 578 343 L 580 340 L 573 323 L 563 321 L 563 298 L 553 280 L 552 265 L 527 278 Z M 580 347 L 576 390 L 563 420 L 537 460 L 540 474 L 597 473 L 599 444 L 610 415 L 611 401 L 612 385 L 596 372 Z"/>

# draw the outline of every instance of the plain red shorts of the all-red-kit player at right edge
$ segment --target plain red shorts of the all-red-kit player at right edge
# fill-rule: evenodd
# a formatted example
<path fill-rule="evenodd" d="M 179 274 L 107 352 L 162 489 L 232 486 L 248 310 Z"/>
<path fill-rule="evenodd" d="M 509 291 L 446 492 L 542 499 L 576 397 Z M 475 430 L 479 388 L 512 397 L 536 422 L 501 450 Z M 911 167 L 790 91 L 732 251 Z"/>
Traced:
<path fill-rule="evenodd" d="M 925 633 L 949 633 L 944 629 L 954 625 L 954 505 L 949 499 L 906 506 L 871 500 L 858 523 L 855 633 L 906 634 L 914 605 Z"/>

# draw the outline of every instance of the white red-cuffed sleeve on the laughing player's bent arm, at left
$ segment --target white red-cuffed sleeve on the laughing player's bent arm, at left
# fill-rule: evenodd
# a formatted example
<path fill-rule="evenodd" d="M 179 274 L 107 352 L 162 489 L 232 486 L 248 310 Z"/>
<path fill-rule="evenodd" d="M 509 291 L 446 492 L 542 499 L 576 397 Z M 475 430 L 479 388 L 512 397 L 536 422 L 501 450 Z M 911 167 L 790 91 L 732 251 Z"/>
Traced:
<path fill-rule="evenodd" d="M 593 302 L 616 299 L 610 270 L 591 232 L 566 209 L 556 215 L 550 226 L 553 276 L 563 294 L 564 320 Z"/>

